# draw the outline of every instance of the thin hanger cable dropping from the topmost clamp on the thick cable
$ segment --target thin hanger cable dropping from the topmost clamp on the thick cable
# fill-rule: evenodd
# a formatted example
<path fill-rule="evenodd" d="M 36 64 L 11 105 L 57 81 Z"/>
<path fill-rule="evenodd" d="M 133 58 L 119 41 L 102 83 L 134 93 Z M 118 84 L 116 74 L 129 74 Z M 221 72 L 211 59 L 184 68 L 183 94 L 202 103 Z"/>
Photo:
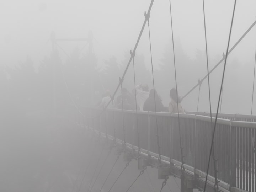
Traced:
<path fill-rule="evenodd" d="M 156 142 L 158 145 L 158 163 L 162 165 L 162 158 L 161 158 L 161 147 L 159 143 L 159 130 L 158 130 L 158 123 L 157 123 L 157 114 L 156 114 L 156 99 L 155 99 L 155 82 L 154 82 L 154 72 L 153 72 L 153 60 L 152 60 L 152 50 L 151 50 L 151 38 L 150 38 L 150 27 L 149 27 L 149 17 L 150 14 L 144 12 L 145 19 L 148 21 L 148 30 L 149 30 L 149 47 L 150 47 L 150 59 L 151 59 L 151 70 L 152 70 L 152 79 L 153 79 L 153 89 L 154 89 L 154 104 L 155 104 L 155 119 L 156 119 Z"/>

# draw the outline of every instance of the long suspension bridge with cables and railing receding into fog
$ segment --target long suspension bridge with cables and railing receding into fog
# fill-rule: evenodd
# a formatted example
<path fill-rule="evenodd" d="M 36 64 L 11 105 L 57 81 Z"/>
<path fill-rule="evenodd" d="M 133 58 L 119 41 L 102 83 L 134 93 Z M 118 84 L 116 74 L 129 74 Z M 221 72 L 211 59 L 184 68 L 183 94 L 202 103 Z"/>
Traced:
<path fill-rule="evenodd" d="M 118 86 L 113 92 L 111 100 L 108 102 L 107 106 L 103 109 L 80 108 L 72 99 L 68 84 L 65 82 L 68 94 L 74 104 L 74 108 L 73 110 L 70 110 L 68 118 L 73 119 L 73 121 L 76 121 L 80 127 L 88 130 L 92 137 L 97 139 L 98 142 L 109 146 L 109 148 L 106 150 L 111 151 L 113 148 L 116 149 L 117 159 L 113 162 L 113 167 L 116 165 L 119 156 L 123 154 L 123 161 L 126 162 L 124 163 L 124 169 L 120 172 L 119 175 L 116 175 L 116 180 L 112 183 L 111 188 L 108 189 L 109 192 L 112 190 L 112 187 L 116 184 L 116 182 L 118 182 L 119 177 L 122 174 L 125 175 L 125 172 L 128 169 L 127 167 L 129 166 L 132 159 L 137 160 L 137 168 L 141 171 L 139 175 L 134 178 L 134 182 L 130 183 L 130 187 L 132 187 L 137 179 L 144 174 L 144 171 L 147 169 L 147 167 L 151 166 L 156 168 L 155 171 L 158 171 L 158 179 L 163 180 L 162 186 L 159 188 L 160 192 L 164 189 L 170 176 L 180 178 L 181 192 L 192 192 L 193 189 L 215 192 L 256 191 L 256 116 L 252 114 L 224 114 L 218 112 L 228 55 L 235 49 L 235 47 L 256 24 L 256 21 L 253 22 L 248 30 L 245 31 L 245 33 L 234 44 L 234 46 L 229 48 L 236 0 L 234 1 L 234 9 L 226 53 L 223 54 L 223 58 L 211 70 L 209 70 L 208 67 L 207 33 L 205 16 L 203 15 L 207 54 L 207 75 L 202 79 L 199 79 L 198 83 L 182 97 L 182 99 L 184 99 L 196 87 L 200 87 L 204 80 L 208 79 L 209 103 L 211 103 L 209 75 L 221 63 L 224 62 L 222 84 L 216 113 L 212 112 L 211 106 L 209 113 L 187 111 L 186 114 L 180 114 L 179 112 L 144 112 L 138 111 L 137 108 L 133 111 L 124 110 L 123 108 L 121 110 L 114 108 L 114 97 L 120 88 L 122 92 L 122 83 L 125 79 L 127 69 L 131 63 L 133 65 L 134 72 L 134 87 L 136 85 L 136 73 L 134 68 L 134 63 L 136 60 L 135 51 L 146 25 L 148 25 L 152 79 L 153 88 L 155 89 L 152 61 L 153 53 L 151 52 L 149 25 L 150 11 L 153 6 L 153 2 L 154 0 L 151 1 L 148 11 L 144 13 L 145 20 L 139 33 L 139 37 L 135 43 L 134 49 L 130 51 L 129 62 L 123 75 L 119 78 Z M 170 2 L 170 16 L 172 19 L 171 10 L 172 7 Z M 173 34 L 172 20 L 171 29 Z M 51 40 L 53 49 L 55 50 L 57 47 L 59 47 L 57 44 L 58 41 L 80 41 L 81 39 L 56 39 L 53 36 Z M 87 41 L 88 39 L 82 40 Z M 172 47 L 174 56 L 176 90 L 178 90 L 176 80 L 174 43 L 172 43 Z M 65 81 L 65 75 L 63 75 L 63 79 Z M 110 152 L 107 153 L 106 159 L 101 165 L 100 171 L 93 181 L 95 176 L 94 172 L 90 185 L 87 186 L 88 192 L 93 191 L 94 184 L 97 182 L 97 178 L 109 155 Z M 97 168 L 97 166 L 99 166 L 99 160 L 96 161 Z M 111 174 L 112 169 L 110 170 L 108 176 Z M 102 191 L 103 186 L 107 182 L 108 176 L 106 177 L 105 182 L 100 184 L 102 186 L 100 191 Z M 127 189 L 119 189 L 119 191 L 129 191 L 130 187 Z M 171 188 L 169 189 L 171 191 Z"/>

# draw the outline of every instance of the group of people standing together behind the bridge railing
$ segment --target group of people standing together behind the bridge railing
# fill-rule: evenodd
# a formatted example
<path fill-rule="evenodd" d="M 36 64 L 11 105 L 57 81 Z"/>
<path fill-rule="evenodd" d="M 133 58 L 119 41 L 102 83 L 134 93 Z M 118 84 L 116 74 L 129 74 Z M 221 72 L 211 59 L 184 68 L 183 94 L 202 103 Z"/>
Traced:
<path fill-rule="evenodd" d="M 136 94 L 136 98 L 135 98 Z M 106 91 L 102 98 L 100 107 L 106 107 L 111 101 L 111 93 Z M 130 93 L 126 88 L 122 89 L 122 94 L 119 95 L 114 101 L 114 107 L 125 110 L 137 110 L 138 111 L 156 111 L 156 112 L 169 112 L 169 113 L 185 113 L 181 106 L 181 98 L 178 96 L 175 88 L 170 90 L 170 102 L 168 107 L 164 107 L 162 99 L 158 95 L 157 91 L 151 89 L 149 91 L 148 85 L 138 85 L 136 89 Z M 111 108 L 108 105 L 108 108 Z"/>

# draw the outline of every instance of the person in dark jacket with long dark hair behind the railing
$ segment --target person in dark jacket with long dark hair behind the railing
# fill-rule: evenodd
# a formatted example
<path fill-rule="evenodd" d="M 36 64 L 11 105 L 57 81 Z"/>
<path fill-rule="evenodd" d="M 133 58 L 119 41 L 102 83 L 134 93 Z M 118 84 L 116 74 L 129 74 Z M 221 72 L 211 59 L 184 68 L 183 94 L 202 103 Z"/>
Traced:
<path fill-rule="evenodd" d="M 156 100 L 156 112 L 164 111 L 164 106 L 162 104 L 162 100 L 155 91 L 155 100 Z M 149 97 L 146 99 L 143 111 L 155 111 L 155 101 L 154 101 L 154 89 L 149 91 Z"/>

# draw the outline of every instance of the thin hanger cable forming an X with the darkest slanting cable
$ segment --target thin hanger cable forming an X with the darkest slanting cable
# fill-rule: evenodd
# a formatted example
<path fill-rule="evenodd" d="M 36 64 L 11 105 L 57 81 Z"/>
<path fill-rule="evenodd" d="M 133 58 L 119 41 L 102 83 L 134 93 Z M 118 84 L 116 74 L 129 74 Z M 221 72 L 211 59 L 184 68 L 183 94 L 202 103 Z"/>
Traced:
<path fill-rule="evenodd" d="M 208 62 L 208 48 L 207 48 L 207 36 L 206 36 L 206 20 L 205 20 L 205 11 L 204 11 L 204 0 L 203 0 L 203 16 L 204 16 L 204 37 L 205 37 L 205 44 L 206 44 L 206 63 L 207 63 L 207 77 L 208 77 L 208 92 L 209 92 L 209 104 L 210 104 L 210 124 L 211 124 L 211 132 L 213 136 L 213 123 L 212 123 L 212 102 L 210 97 L 210 78 L 209 78 L 209 62 Z M 202 82 L 201 82 L 202 83 Z M 201 84 L 200 84 L 201 86 Z M 213 142 L 213 149 L 212 149 L 212 158 L 213 158 L 213 167 L 214 167 L 214 190 L 219 190 L 218 180 L 217 180 L 217 167 L 216 167 L 216 160 L 214 155 L 214 142 Z M 207 170 L 208 171 L 208 170 Z M 216 190 L 215 190 L 216 191 Z"/>

